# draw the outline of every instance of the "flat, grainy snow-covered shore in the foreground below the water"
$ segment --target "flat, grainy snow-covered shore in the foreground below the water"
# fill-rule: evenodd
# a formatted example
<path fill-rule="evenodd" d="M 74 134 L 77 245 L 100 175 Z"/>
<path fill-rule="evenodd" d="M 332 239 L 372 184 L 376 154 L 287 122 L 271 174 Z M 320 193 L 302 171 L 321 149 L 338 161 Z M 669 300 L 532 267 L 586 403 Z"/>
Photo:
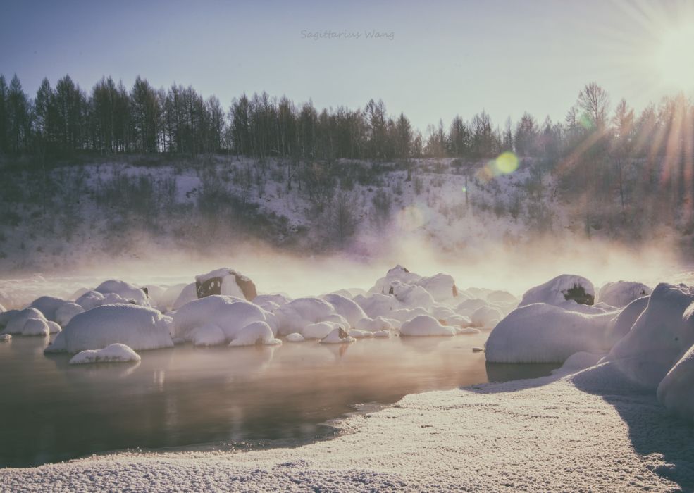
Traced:
<path fill-rule="evenodd" d="M 693 489 L 694 430 L 652 393 L 603 378 L 606 370 L 411 394 L 297 448 L 123 453 L 0 470 L 0 489 Z"/>

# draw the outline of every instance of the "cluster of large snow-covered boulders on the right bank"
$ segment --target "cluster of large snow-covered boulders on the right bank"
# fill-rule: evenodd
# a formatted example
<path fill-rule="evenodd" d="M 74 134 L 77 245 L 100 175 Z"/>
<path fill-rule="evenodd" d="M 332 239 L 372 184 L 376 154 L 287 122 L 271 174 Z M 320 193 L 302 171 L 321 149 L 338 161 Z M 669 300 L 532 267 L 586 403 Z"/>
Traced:
<path fill-rule="evenodd" d="M 694 287 L 661 283 L 651 291 L 613 282 L 600 289 L 595 311 L 586 313 L 559 297 L 569 286 L 575 294 L 576 285 L 593 292 L 589 282 L 567 275 L 526 293 L 490 333 L 487 360 L 564 362 L 590 354 L 597 361 L 591 370 L 603 382 L 625 379 L 656 392 L 669 411 L 694 422 Z"/>

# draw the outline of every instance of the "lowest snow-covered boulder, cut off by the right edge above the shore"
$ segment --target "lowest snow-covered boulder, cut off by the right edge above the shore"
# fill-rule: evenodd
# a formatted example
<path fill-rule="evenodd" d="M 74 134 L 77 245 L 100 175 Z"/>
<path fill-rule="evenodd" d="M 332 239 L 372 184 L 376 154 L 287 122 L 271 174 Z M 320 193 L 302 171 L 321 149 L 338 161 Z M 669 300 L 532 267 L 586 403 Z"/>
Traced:
<path fill-rule="evenodd" d="M 694 423 L 694 347 L 665 375 L 657 396 L 668 411 Z"/>

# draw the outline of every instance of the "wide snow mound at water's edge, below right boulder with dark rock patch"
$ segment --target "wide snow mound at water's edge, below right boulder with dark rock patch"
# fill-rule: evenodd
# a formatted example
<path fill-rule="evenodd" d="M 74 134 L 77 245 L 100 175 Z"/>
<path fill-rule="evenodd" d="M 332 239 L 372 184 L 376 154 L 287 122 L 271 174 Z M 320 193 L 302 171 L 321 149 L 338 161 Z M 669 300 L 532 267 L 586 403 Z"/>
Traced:
<path fill-rule="evenodd" d="M 494 327 L 486 343 L 492 363 L 563 363 L 578 351 L 608 351 L 612 313 L 587 315 L 536 303 L 516 308 Z"/>

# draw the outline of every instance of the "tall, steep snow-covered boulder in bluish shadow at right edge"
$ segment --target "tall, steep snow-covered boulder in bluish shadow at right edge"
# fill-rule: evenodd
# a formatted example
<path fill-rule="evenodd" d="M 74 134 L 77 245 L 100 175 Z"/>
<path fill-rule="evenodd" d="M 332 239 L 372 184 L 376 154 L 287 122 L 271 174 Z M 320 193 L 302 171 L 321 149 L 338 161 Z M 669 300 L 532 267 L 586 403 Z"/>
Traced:
<path fill-rule="evenodd" d="M 631 330 L 605 356 L 630 380 L 655 389 L 694 344 L 694 289 L 661 283 Z"/>

